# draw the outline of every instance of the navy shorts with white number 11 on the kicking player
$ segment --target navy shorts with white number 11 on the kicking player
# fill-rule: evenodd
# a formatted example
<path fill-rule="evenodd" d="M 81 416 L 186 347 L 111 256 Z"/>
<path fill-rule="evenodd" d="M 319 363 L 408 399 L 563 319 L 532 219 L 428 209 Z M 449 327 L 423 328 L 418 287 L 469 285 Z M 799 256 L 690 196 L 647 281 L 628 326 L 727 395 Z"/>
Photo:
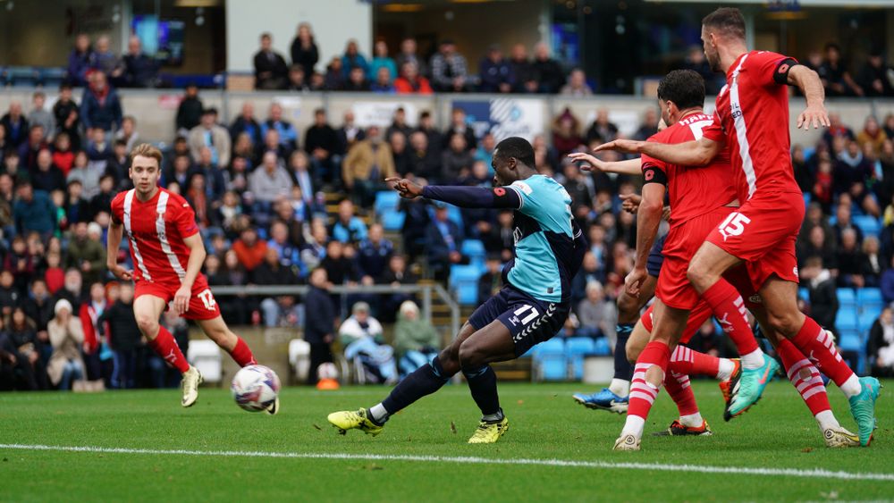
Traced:
<path fill-rule="evenodd" d="M 568 319 L 570 303 L 537 300 L 527 293 L 504 286 L 487 302 L 478 306 L 468 317 L 468 324 L 475 330 L 485 328 L 494 320 L 499 320 L 509 329 L 515 343 L 515 356 L 522 356 L 527 350 L 561 331 Z"/>

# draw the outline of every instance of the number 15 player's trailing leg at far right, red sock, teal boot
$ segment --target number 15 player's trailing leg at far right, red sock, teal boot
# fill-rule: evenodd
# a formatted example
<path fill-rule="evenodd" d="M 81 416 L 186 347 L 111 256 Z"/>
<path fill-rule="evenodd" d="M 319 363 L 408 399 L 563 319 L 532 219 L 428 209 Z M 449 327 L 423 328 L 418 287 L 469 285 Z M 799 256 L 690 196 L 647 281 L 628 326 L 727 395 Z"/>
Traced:
<path fill-rule="evenodd" d="M 860 444 L 869 445 L 875 429 L 875 400 L 881 387 L 878 379 L 857 377 L 839 355 L 829 333 L 797 309 L 796 283 L 772 276 L 763 283 L 760 293 L 767 312 L 767 323 L 790 340 L 802 355 L 809 355 L 816 362 L 817 369 L 835 381 L 850 403 Z M 810 406 L 809 403 L 807 405 Z"/>

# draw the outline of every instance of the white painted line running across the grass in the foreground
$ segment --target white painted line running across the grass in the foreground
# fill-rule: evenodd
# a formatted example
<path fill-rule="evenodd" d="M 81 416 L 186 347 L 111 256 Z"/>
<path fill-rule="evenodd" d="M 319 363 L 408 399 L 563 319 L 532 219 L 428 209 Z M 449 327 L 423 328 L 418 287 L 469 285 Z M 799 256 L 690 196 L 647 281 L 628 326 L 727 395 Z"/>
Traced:
<path fill-rule="evenodd" d="M 661 463 L 613 463 L 609 461 L 577 461 L 573 459 L 500 459 L 492 457 L 409 456 L 389 454 L 350 454 L 314 452 L 265 452 L 243 450 L 188 450 L 188 449 L 128 449 L 91 446 L 51 446 L 28 444 L 0 444 L 0 449 L 47 450 L 65 452 L 98 452 L 104 454 L 154 454 L 216 457 L 284 457 L 297 459 L 364 459 L 368 461 L 419 461 L 426 463 L 458 463 L 462 465 L 533 465 L 570 468 L 608 468 L 619 470 L 654 470 L 658 472 L 691 472 L 697 474 L 740 474 L 840 479 L 848 481 L 894 482 L 894 474 L 855 473 L 795 468 L 753 468 L 747 466 L 667 465 Z"/>

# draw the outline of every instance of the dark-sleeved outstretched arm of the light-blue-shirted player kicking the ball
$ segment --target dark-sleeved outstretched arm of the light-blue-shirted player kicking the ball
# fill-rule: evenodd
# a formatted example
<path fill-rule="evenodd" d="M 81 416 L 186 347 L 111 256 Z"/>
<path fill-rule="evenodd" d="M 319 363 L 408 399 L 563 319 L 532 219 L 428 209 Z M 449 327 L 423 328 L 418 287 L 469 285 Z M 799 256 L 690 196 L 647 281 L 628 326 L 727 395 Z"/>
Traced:
<path fill-rule="evenodd" d="M 407 179 L 389 178 L 385 181 L 393 183 L 401 197 L 414 199 L 416 197 L 428 197 L 435 201 L 443 201 L 462 208 L 508 208 L 519 209 L 521 198 L 515 189 L 495 187 L 451 187 L 441 185 L 428 185 L 421 187 L 417 183 Z"/>

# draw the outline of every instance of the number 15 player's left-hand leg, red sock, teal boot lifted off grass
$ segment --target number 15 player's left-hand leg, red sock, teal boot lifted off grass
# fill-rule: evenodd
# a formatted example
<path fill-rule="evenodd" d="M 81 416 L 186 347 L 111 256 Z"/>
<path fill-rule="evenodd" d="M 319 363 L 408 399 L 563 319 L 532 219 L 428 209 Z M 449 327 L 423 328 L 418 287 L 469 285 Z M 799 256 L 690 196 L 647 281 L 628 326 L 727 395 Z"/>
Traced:
<path fill-rule="evenodd" d="M 735 220 L 736 215 L 740 214 L 732 213 L 730 217 Z M 732 222 L 728 221 L 730 218 L 721 222 L 721 228 L 732 225 Z M 723 331 L 730 336 L 730 340 L 736 344 L 738 354 L 741 356 L 742 373 L 738 382 L 738 392 L 724 413 L 727 421 L 745 412 L 761 398 L 764 388 L 779 366 L 757 346 L 755 334 L 751 331 L 751 325 L 748 324 L 746 317 L 745 300 L 730 281 L 722 276 L 739 263 L 741 260 L 736 256 L 707 241 L 698 248 L 687 270 L 687 278 L 704 301 L 711 306 L 714 316 L 721 323 Z"/>

